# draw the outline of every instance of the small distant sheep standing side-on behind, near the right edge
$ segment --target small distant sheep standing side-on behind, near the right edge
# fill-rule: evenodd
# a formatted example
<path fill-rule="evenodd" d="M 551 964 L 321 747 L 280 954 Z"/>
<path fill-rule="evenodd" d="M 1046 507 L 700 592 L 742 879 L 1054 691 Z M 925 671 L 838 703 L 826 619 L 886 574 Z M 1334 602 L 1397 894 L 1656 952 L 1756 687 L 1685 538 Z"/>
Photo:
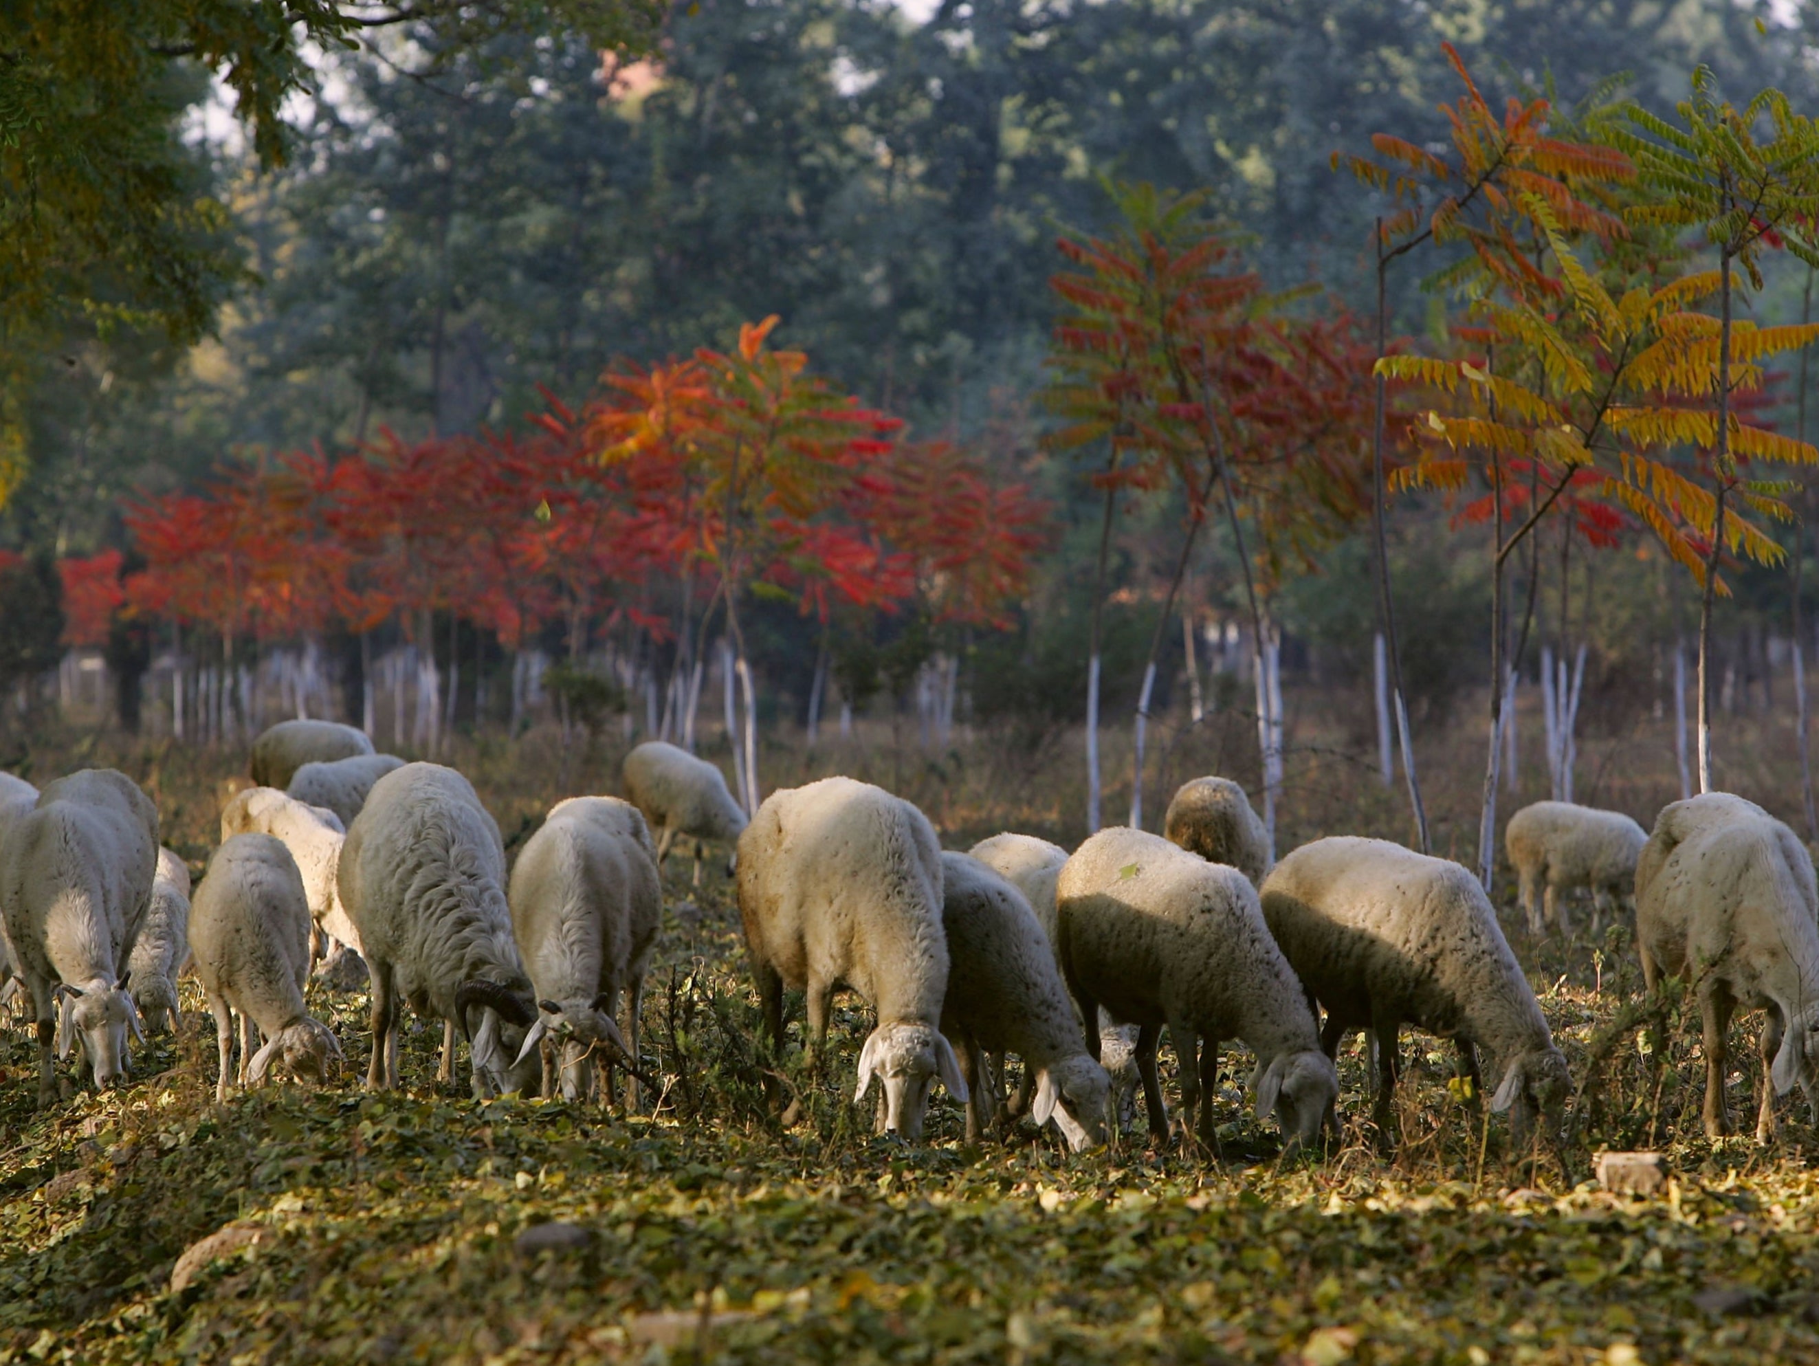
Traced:
<path fill-rule="evenodd" d="M 1563 893 L 1592 888 L 1592 933 L 1597 935 L 1604 897 L 1621 906 L 1635 886 L 1635 859 L 1648 831 L 1621 811 L 1533 802 L 1510 817 L 1502 840 L 1523 884 L 1528 933 L 1539 937 L 1544 920 L 1570 933 Z M 1544 886 L 1541 908 L 1535 906 L 1537 886 Z"/>

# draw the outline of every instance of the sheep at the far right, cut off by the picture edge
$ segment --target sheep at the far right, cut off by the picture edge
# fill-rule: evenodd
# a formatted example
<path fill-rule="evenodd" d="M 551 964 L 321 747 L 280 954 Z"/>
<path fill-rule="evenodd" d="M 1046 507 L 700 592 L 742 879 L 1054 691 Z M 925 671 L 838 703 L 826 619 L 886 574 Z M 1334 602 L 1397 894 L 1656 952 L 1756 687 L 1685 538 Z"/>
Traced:
<path fill-rule="evenodd" d="M 1795 1082 L 1819 1108 L 1819 895 L 1806 846 L 1754 802 L 1710 793 L 1663 808 L 1635 868 L 1643 980 L 1690 977 L 1704 1026 L 1704 1131 L 1730 1131 L 1730 1017 L 1763 1009 L 1755 1137 Z"/>

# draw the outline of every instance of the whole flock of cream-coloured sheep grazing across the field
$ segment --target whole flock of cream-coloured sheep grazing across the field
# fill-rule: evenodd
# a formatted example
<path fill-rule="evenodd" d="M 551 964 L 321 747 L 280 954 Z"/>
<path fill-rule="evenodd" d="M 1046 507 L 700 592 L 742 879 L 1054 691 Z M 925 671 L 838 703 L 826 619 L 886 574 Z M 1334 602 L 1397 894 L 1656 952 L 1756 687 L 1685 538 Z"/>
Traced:
<path fill-rule="evenodd" d="M 156 809 L 122 773 L 85 769 L 42 793 L 0 775 L 0 999 L 24 989 L 33 1008 L 40 1104 L 55 1102 L 56 1060 L 73 1050 L 96 1086 L 126 1077 L 129 1035 L 175 1026 L 191 962 L 216 1022 L 220 1097 L 231 1079 L 338 1071 L 340 1042 L 309 1017 L 304 986 L 311 969 L 364 962 L 367 1086 L 398 1084 L 409 1004 L 444 1022 L 444 1080 L 467 1044 L 477 1097 L 606 1099 L 624 1071 L 637 1104 L 651 1080 L 638 1013 L 658 868 L 678 839 L 695 842 L 697 882 L 704 842 L 737 846 L 779 1055 L 786 988 L 806 995 L 811 1068 L 824 1066 L 837 989 L 873 1008 L 855 1099 L 877 1082 L 879 1130 L 906 1139 L 920 1137 L 937 1080 L 966 1104 L 970 1139 L 1028 1113 L 1079 1151 L 1106 1139 L 1133 1086 L 1162 1139 L 1164 1026 L 1181 1133 L 1208 1146 L 1222 1040 L 1253 1055 L 1257 1113 L 1290 1150 L 1335 1122 L 1350 1030 L 1373 1039 L 1384 1128 L 1404 1024 L 1452 1039 L 1473 1082 L 1488 1053 L 1490 1106 L 1510 1111 L 1519 1144 L 1537 1120 L 1559 1133 L 1570 1091 L 1475 877 L 1352 837 L 1270 868 L 1262 826 L 1226 778 L 1186 784 L 1162 837 L 1111 828 L 1070 855 L 1006 833 L 944 853 L 915 806 L 851 778 L 777 791 L 748 822 L 715 766 L 653 742 L 626 758 L 629 800 L 558 802 L 508 877 L 498 826 L 460 773 L 375 755 L 353 728 L 275 726 L 251 775 L 258 786 L 224 809 L 193 900 L 182 860 L 158 848 Z M 1774 1097 L 1795 1084 L 1819 1104 L 1819 897 L 1786 826 L 1719 793 L 1668 806 L 1652 835 L 1617 813 L 1537 802 L 1510 820 L 1506 848 L 1537 935 L 1550 920 L 1568 929 L 1575 889 L 1593 893 L 1595 915 L 1633 889 L 1644 980 L 1684 975 L 1701 1002 L 1708 1133 L 1728 1130 L 1737 1008 L 1768 1015 L 1757 1137 L 1774 1133 Z M 1017 1095 L 1006 1055 L 1022 1060 Z"/>

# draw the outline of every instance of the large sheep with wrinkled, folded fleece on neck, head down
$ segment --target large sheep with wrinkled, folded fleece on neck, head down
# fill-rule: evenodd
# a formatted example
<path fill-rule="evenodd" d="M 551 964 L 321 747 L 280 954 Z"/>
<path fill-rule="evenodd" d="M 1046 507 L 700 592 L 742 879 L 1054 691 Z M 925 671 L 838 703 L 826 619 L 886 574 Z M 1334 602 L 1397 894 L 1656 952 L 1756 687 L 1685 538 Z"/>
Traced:
<path fill-rule="evenodd" d="M 473 1093 L 526 1088 L 513 1059 L 537 1022 L 506 906 L 506 848 L 473 786 L 440 764 L 373 784 L 342 848 L 337 884 L 371 973 L 369 1088 L 398 1084 L 398 1002 L 453 1024 Z"/>

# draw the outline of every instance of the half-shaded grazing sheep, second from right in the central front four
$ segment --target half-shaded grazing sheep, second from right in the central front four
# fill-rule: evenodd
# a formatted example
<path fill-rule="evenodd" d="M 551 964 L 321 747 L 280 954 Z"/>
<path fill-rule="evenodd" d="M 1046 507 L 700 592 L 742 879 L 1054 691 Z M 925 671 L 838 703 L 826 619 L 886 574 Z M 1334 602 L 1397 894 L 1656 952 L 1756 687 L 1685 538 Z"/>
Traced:
<path fill-rule="evenodd" d="M 1088 1020 L 1088 1046 L 1099 1051 L 1099 1006 L 1141 1026 L 1137 1068 L 1157 1142 L 1168 1135 L 1155 1075 L 1164 1024 L 1181 1059 L 1182 1128 L 1191 1131 L 1199 1106 L 1206 1146 L 1217 1144 L 1219 1042 L 1233 1037 L 1257 1057 L 1257 1113 L 1277 1115 L 1290 1148 L 1319 1135 L 1339 1095 L 1339 1073 L 1321 1051 L 1308 997 L 1242 873 L 1119 826 L 1068 859 L 1057 895 L 1060 960 Z"/>

